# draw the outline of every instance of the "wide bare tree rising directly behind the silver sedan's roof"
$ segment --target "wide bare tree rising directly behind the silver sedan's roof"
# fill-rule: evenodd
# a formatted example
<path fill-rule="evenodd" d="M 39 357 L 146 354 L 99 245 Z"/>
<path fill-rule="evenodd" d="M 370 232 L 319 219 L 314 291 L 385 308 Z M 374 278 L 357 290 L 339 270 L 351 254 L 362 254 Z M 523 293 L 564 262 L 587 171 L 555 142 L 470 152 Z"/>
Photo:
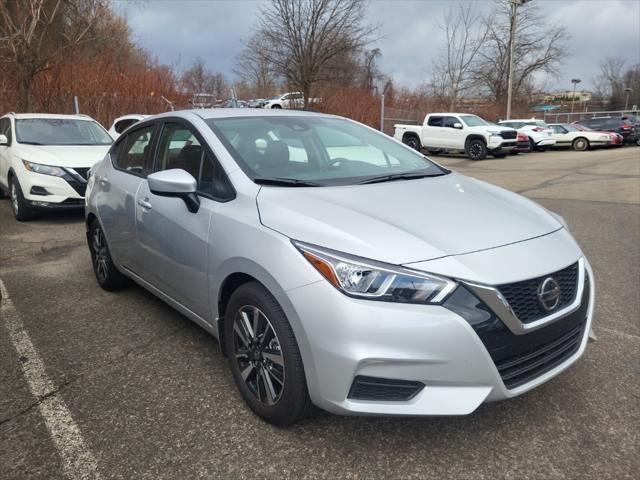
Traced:
<path fill-rule="evenodd" d="M 331 80 L 333 59 L 362 50 L 377 27 L 363 25 L 366 0 L 271 0 L 261 8 L 256 34 L 274 72 L 304 94 Z"/>

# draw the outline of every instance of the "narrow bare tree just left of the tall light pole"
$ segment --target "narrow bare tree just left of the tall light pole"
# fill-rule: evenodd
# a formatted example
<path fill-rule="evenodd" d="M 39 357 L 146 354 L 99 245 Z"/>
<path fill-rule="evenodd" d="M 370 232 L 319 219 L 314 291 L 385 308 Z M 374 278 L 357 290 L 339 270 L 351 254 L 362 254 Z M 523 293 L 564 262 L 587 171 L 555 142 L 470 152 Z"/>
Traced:
<path fill-rule="evenodd" d="M 438 96 L 448 100 L 449 110 L 453 111 L 460 96 L 473 85 L 471 72 L 490 27 L 471 4 L 459 3 L 457 9 L 449 9 L 440 28 L 446 35 L 447 47 L 433 63 L 431 86 Z"/>

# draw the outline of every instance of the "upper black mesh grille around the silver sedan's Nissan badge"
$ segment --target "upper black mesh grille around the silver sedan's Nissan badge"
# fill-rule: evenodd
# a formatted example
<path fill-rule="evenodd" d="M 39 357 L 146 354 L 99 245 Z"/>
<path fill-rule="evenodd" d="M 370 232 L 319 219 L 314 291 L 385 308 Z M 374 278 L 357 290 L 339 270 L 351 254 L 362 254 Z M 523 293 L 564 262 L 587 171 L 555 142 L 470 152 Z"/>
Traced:
<path fill-rule="evenodd" d="M 571 304 L 576 297 L 578 286 L 577 263 L 549 275 L 498 287 L 522 323 L 534 322 L 549 315 L 550 312 L 542 307 L 538 299 L 538 287 L 548 277 L 554 278 L 560 287 L 560 300 L 554 310 L 560 310 Z"/>

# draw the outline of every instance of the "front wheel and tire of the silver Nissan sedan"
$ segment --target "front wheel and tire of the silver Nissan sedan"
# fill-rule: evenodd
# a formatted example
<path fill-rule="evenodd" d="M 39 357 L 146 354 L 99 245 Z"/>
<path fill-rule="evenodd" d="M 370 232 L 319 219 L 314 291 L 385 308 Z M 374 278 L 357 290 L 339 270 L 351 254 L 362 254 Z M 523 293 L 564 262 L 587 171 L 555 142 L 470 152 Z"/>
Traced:
<path fill-rule="evenodd" d="M 273 425 L 306 417 L 312 403 L 302 357 L 273 295 L 257 282 L 245 283 L 229 299 L 224 318 L 229 366 L 249 408 Z"/>

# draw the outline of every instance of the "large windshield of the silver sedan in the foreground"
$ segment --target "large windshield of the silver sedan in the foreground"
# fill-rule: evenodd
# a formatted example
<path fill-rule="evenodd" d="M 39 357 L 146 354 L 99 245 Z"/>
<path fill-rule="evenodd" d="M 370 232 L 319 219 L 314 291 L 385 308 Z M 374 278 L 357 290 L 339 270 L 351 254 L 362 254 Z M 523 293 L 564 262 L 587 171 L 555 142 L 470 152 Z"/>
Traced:
<path fill-rule="evenodd" d="M 345 119 L 268 116 L 216 118 L 207 124 L 256 182 L 353 185 L 387 175 L 448 173 L 386 135 Z"/>

